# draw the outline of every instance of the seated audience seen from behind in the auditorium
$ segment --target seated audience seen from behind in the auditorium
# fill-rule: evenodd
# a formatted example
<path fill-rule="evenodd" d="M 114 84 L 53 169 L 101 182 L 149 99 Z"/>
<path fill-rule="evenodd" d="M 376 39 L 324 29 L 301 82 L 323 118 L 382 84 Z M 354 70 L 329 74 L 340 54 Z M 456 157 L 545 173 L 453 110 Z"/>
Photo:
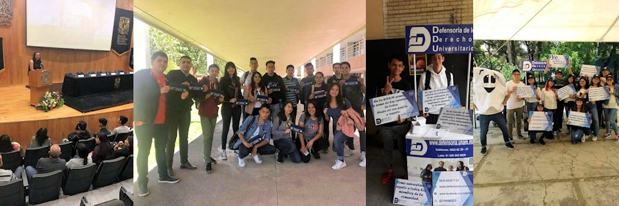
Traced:
<path fill-rule="evenodd" d="M 69 159 L 69 161 L 65 161 L 65 159 L 60 158 L 61 148 L 58 144 L 52 144 L 52 139 L 47 136 L 47 128 L 39 128 L 39 130 L 36 131 L 36 135 L 32 136 L 32 140 L 30 141 L 30 144 L 28 144 L 28 148 L 50 146 L 49 157 L 39 159 L 34 167 L 32 165 L 28 165 L 26 168 L 22 168 L 20 166 L 17 170 L 15 170 L 14 174 L 10 170 L 0 169 L 0 174 L 4 174 L 3 176 L 0 175 L 0 182 L 21 178 L 32 179 L 34 174 L 43 174 L 53 172 L 55 170 L 66 171 L 91 163 L 96 163 L 98 165 L 102 161 L 114 159 L 116 157 L 129 157 L 129 155 L 133 155 L 133 136 L 129 136 L 127 139 L 124 139 L 124 141 L 119 141 L 115 144 L 111 144 L 109 140 L 110 137 L 114 137 L 114 135 L 118 133 L 129 133 L 131 131 L 131 128 L 125 126 L 127 121 L 127 117 L 120 116 L 118 118 L 118 124 L 120 124 L 120 126 L 110 131 L 106 127 L 107 119 L 100 118 L 100 131 L 94 135 L 96 141 L 94 150 L 91 150 L 91 148 L 89 148 L 89 146 L 85 143 L 78 143 L 80 139 L 89 139 L 92 137 L 90 132 L 86 129 L 86 122 L 78 122 L 75 127 L 75 131 L 70 133 L 67 139 L 63 139 L 63 142 L 72 141 L 74 148 L 76 148 L 76 155 L 72 157 L 72 159 Z M 21 146 L 17 144 L 17 142 L 11 141 L 9 135 L 0 136 L 0 153 L 12 152 L 16 150 L 21 150 Z M 25 176 L 23 176 L 24 170 Z"/>

